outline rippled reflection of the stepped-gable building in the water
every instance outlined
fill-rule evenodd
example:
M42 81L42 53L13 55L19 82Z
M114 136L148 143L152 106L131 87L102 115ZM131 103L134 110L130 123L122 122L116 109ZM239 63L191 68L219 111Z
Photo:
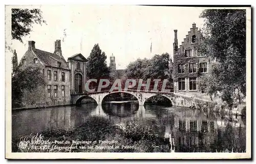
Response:
M224 121L221 118L214 118L207 114L203 116L201 114L198 111L176 112L173 130L169 132L167 129L167 133L171 133L174 137L176 152L215 152L216 148L220 147L218 142L220 140L224 142L222 136L228 138L230 137L228 135L236 135L239 138L238 127L244 127L241 118L239 119L240 122ZM228 131L226 129L228 128L227 125L230 126L233 134L224 134ZM239 141L236 141L233 144L238 143ZM222 146L225 149L229 148L227 145ZM231 150L232 148L229 149Z

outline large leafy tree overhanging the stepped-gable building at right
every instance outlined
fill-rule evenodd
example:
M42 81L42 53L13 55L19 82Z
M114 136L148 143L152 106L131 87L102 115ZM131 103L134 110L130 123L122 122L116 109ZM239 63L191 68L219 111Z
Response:
M229 105L246 95L246 11L207 9L200 49L217 63L204 78L209 95L221 93Z

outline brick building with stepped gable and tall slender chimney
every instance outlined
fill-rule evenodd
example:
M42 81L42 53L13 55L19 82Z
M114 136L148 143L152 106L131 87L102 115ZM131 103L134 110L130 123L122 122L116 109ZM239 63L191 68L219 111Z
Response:
M212 59L199 50L202 33L192 25L178 48L177 30L174 30L174 90L183 93L201 93L198 87L200 76L208 73Z

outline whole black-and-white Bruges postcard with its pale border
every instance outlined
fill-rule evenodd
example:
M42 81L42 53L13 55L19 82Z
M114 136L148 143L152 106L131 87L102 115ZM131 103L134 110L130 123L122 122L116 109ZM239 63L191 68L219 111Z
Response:
M251 7L6 5L7 159L251 158Z

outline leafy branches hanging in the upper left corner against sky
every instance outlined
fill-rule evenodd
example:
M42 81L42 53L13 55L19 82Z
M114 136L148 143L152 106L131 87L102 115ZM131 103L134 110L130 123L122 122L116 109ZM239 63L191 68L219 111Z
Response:
M22 37L30 34L33 24L46 24L41 13L40 9L12 9L12 39L23 42Z

